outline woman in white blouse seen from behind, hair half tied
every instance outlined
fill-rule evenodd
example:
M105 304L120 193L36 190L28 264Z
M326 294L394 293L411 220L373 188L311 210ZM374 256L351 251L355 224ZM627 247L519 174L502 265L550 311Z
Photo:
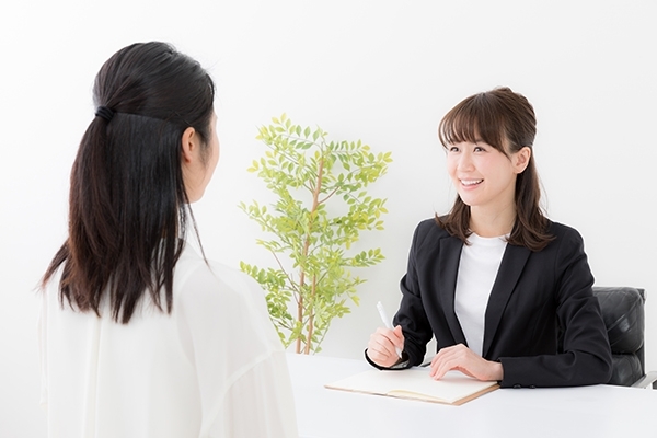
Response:
M297 436L262 289L185 243L219 158L214 97L164 43L125 47L96 76L69 235L43 279L49 436Z

